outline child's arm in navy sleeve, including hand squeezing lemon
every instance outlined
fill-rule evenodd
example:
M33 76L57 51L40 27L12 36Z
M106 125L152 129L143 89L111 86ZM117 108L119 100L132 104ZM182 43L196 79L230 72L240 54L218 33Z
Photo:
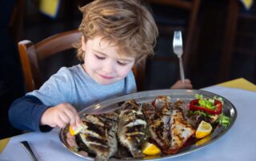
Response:
M39 132L48 132L57 126L64 128L66 124L74 128L82 124L71 104L47 107L36 96L23 96L15 100L10 106L9 118L15 128Z

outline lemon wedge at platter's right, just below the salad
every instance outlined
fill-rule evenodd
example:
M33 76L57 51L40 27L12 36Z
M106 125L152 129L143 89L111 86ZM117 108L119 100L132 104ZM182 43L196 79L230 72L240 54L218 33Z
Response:
M212 126L206 121L202 120L198 126L197 131L195 132L195 137L196 139L202 139L206 137L206 135L209 135L212 130Z

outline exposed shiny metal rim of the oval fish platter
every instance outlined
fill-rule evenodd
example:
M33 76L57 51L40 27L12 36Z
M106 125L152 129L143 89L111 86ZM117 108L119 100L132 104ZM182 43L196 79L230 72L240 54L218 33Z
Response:
M89 107L84 108L81 112L79 112L79 115L82 117L84 113L107 113L107 112L112 112L114 110L117 110L118 108L121 108L121 105L126 101L126 100L131 100L134 99L138 103L143 103L143 102L152 102L157 96L170 96L171 101L175 102L177 100L183 100L186 102L186 104L189 104L190 100L194 100L195 94L202 94L204 97L209 97L212 98L214 96L219 96L217 94L214 94L212 92L206 92L202 90L186 90L186 89L163 89L163 90L153 90L153 91L145 91L145 92L135 92L131 93L125 96L118 96L109 100L102 101L101 103L98 104L92 104ZM221 96L224 100L224 105L223 105L223 112L226 116L230 117L230 125L227 128L215 128L214 132L212 132L209 137L206 137L206 139L201 139L196 143L192 143L189 146L183 147L180 151L178 151L177 154L174 155L161 155L156 158L151 158L151 159L126 159L126 160L161 160L161 159L170 159L174 157L178 157L180 155L186 155L188 153L191 153L193 151L198 151L202 147L206 147L210 143L214 142L215 140L219 139L224 135L226 132L230 130L230 128L233 126L234 121L236 120L237 117L237 110L234 108L234 105L230 103L229 100L226 100L223 96ZM75 155L81 156L82 158L85 159L90 159L93 160L93 157L90 156L82 156L80 155L77 151L72 150L72 148L66 143L66 132L68 128L62 128L61 131L59 132L59 137L64 145L69 151L74 153ZM110 160L118 160L111 158Z

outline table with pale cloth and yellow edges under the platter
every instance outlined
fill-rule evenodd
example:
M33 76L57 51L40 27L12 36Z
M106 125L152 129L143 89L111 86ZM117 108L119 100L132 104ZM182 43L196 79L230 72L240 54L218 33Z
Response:
M214 84L200 90L229 100L237 110L233 126L220 138L205 147L184 155L162 160L256 160L256 85L244 78ZM86 160L74 155L59 139L59 128L50 132L27 132L0 140L0 160L31 160L20 142L26 140L39 161Z

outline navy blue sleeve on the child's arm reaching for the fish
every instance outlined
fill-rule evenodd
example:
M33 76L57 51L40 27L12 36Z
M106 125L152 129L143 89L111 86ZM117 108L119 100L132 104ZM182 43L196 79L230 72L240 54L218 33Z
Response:
M15 100L9 109L9 120L15 128L35 132L49 132L50 126L40 126L42 113L49 108L35 96L23 96Z

